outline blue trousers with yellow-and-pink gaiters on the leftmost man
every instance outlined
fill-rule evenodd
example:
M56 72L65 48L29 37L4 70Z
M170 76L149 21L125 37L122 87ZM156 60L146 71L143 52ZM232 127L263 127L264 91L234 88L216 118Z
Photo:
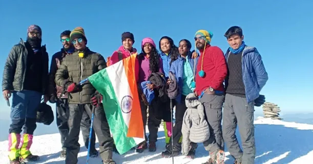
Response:
M37 107L41 93L23 90L12 93L11 125L9 129L9 158L26 158L30 155L33 133L36 129ZM23 128L24 126L24 128ZM23 128L23 136L20 135Z

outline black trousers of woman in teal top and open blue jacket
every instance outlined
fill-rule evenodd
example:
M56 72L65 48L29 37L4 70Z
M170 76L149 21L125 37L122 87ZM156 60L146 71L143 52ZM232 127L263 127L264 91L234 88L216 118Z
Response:
M181 102L178 103L176 100L173 101L173 106L175 105L176 110L175 110L175 126L173 127L173 146L174 146L174 151L181 151L181 143L179 143L179 139L182 136L181 133L181 127L182 127L182 121L183 121L183 116L187 110L186 104L185 104L185 95L181 95ZM172 143L172 137L170 138L170 143ZM169 149L172 148L172 144L170 144Z

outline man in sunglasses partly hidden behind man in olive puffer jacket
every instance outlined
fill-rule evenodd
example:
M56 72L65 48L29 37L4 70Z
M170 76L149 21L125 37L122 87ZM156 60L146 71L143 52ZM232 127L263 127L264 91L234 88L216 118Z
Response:
M68 94L64 92L64 87L55 85L55 73L60 67L62 59L67 55L72 55L75 48L70 42L70 30L66 30L60 34L60 41L63 48L52 56L50 73L49 73L49 102L56 103L56 125L61 135L62 151L60 153L61 158L66 157L66 149L64 147L64 141L67 139L69 133L69 126L67 118L69 115ZM82 137L84 138L85 146L88 148L89 144L89 132L90 132L91 120L87 112L82 113L82 119L80 122L80 128L82 131ZM98 151L95 148L95 133L92 131L91 145L90 145L90 157L97 157Z

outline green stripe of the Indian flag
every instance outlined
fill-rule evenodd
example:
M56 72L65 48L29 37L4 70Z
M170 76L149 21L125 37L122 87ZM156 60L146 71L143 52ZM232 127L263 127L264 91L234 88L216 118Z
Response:
M107 69L103 69L90 77L90 83L103 96L103 108L113 135L116 149L120 154L124 154L137 144L131 137L127 137L128 127L124 122L120 103L115 95ZM116 83L113 81L113 83Z

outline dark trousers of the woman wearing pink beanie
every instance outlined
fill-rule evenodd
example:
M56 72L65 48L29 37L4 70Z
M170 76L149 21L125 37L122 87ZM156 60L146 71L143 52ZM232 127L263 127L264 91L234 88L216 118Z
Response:
M152 104L154 104L153 102ZM158 130L161 124L160 120L157 120L155 118L154 111L157 110L155 105L149 105L149 117L148 117L148 129L149 129L149 136L145 135L145 126L147 124L147 106L145 106L140 101L140 108L141 108L141 114L142 114L142 121L143 121L143 129L144 129L144 138L146 141L150 142L156 142L158 138Z

